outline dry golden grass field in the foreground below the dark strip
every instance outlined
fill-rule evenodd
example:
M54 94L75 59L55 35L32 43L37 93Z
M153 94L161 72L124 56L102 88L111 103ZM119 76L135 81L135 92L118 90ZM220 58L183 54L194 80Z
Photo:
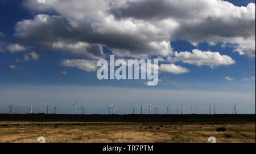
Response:
M226 131L216 131L226 127ZM255 122L245 123L114 123L0 122L0 142L254 142Z

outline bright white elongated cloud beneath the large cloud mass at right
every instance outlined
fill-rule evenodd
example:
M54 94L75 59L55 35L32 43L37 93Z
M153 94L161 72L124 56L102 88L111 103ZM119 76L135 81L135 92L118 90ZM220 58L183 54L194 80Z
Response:
M221 55L218 52L202 52L194 49L191 52L175 52L173 57L167 57L170 62L184 62L192 65L210 67L228 66L235 63L235 61L228 55Z

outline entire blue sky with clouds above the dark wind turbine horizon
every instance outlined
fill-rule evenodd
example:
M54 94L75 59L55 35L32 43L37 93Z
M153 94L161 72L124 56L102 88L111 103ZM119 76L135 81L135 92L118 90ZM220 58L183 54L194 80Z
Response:
M0 21L0 113L255 114L255 1L0 0ZM99 80L113 54L158 59L159 83Z

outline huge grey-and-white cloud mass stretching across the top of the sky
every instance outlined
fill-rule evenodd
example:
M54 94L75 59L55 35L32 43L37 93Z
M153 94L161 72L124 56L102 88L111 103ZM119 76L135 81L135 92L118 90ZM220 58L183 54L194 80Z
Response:
M170 41L187 40L193 45L232 44L234 51L255 57L255 3L238 7L220 0L55 0L38 5L26 0L23 5L41 14L18 22L15 36L48 48L56 42L83 42L106 46L118 56L166 57L172 54ZM47 15L49 11L58 16ZM64 50L86 58L98 57L98 51Z

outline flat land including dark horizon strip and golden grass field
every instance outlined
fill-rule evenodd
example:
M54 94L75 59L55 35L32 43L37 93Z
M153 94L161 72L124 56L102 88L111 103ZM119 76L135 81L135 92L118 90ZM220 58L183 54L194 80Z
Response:
M205 143L214 136L255 143L255 115L0 114L0 142L37 142L39 136L46 142Z

